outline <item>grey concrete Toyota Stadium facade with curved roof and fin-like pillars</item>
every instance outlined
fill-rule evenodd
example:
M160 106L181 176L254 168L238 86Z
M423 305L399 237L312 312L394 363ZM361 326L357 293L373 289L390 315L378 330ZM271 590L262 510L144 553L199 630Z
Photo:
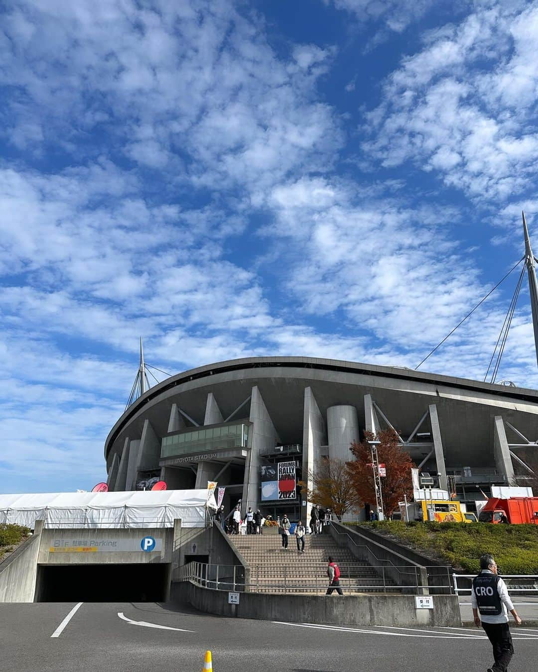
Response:
M167 378L126 409L106 439L108 485L217 480L227 508L241 498L243 509L304 520L310 504L299 491L262 501L262 466L293 460L306 480L322 456L349 459L350 442L387 427L421 470L472 505L479 488L512 484L518 472L525 485L517 453L538 437L538 391L317 358L219 362Z

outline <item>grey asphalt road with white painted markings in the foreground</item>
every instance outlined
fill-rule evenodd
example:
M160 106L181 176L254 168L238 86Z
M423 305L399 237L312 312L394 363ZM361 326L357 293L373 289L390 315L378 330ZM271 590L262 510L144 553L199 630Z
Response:
M215 672L484 672L492 662L481 630L292 625L155 603L82 603L72 613L76 606L0 604L3 669L200 672L206 649ZM510 672L536 669L538 628L512 634Z

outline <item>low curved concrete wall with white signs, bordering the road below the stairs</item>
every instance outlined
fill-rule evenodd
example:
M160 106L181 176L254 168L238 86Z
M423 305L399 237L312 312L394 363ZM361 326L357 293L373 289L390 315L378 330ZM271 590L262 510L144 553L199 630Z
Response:
M458 598L435 595L434 608L416 609L414 595L267 595L240 593L228 604L228 591L202 588L190 581L172 583L170 598L207 614L291 623L347 626L460 626Z

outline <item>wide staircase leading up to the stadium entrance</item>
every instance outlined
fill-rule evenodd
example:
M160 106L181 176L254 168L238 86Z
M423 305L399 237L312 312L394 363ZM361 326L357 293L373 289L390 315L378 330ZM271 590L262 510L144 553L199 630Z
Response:
M340 586L346 593L383 592L393 585L367 562L360 562L348 550L340 548L330 534L309 534L305 552L297 552L295 536L282 548L279 534L230 536L250 569L252 591L258 593L302 593L323 595L328 588L328 557L340 567ZM389 589L390 590L390 589ZM394 592L394 590L390 590Z

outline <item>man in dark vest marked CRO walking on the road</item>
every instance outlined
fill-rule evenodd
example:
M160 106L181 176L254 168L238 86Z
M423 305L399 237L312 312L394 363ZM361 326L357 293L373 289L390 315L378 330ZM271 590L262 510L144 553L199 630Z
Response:
M473 579L471 587L471 607L475 626L479 628L482 625L492 644L495 663L488 667L488 672L506 672L514 655L508 612L518 626L521 626L521 618L514 609L506 583L498 575L497 563L490 554L480 558L480 573Z

